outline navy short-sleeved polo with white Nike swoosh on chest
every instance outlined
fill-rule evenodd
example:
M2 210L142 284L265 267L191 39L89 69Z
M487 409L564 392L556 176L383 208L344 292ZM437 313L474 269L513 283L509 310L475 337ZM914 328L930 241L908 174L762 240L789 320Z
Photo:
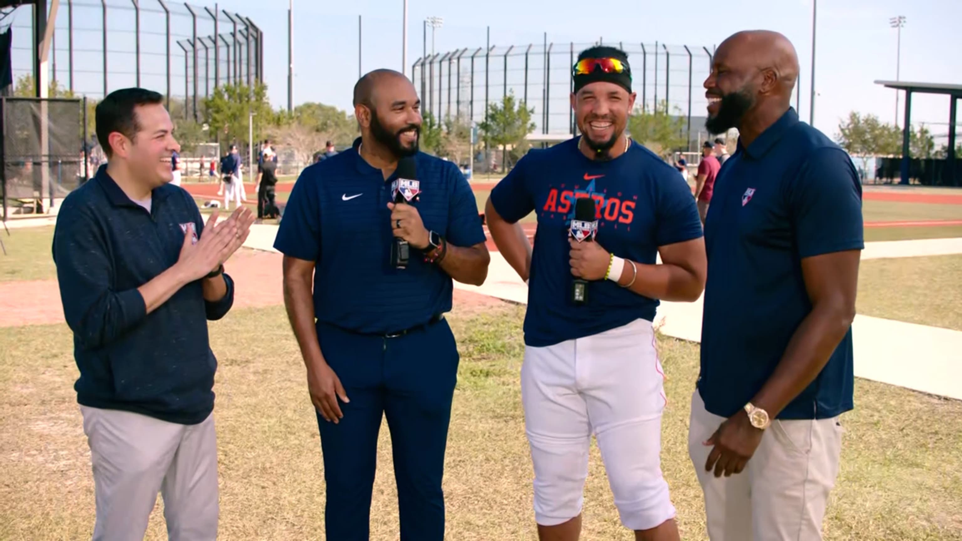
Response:
M451 162L418 152L419 200L428 230L450 245L485 242L477 202ZM314 261L317 322L384 334L428 322L451 309L453 283L411 249L407 269L391 266L391 184L356 147L305 167L297 178L274 247Z

